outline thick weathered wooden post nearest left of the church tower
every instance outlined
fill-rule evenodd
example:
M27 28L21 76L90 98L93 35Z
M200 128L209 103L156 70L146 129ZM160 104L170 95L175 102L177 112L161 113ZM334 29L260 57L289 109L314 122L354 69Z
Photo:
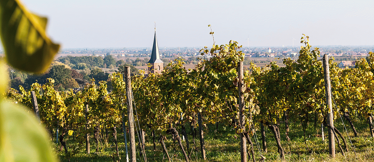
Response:
M125 84L126 84L126 98L127 98L127 116L128 116L128 126L129 126L129 140L130 140L130 151L129 159L131 162L136 162L136 152L135 152L135 132L134 132L134 114L132 112L132 90L131 90L131 75L130 67L125 67Z

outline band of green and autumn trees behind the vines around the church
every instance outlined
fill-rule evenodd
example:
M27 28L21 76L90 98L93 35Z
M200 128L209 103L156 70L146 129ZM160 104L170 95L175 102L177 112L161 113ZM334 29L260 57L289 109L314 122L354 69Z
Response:
M177 56L175 56L177 57ZM164 67L174 58L162 58ZM197 64L200 57L187 57L184 59L186 64ZM103 71L103 68L109 68L111 72L124 71L125 66L131 67L131 73L138 73L135 66L146 66L149 58L136 58L116 61L109 53L102 58L101 56L61 56L52 63L50 69L43 74L29 74L16 69L9 69L10 84L9 88L19 90L19 86L29 89L30 86L38 82L45 84L47 78L55 80L54 88L64 90L70 88L83 88L90 79L95 79L96 84L101 80L108 80L109 73ZM108 89L111 85L108 84Z

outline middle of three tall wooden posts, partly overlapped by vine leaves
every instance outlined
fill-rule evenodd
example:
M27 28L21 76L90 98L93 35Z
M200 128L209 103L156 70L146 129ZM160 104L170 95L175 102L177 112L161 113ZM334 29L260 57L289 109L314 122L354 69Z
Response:
M244 82L243 82L243 61L239 61L237 66L238 82L237 88L239 90L239 124L240 124L240 162L247 161L247 140L243 134L245 125L244 111Z

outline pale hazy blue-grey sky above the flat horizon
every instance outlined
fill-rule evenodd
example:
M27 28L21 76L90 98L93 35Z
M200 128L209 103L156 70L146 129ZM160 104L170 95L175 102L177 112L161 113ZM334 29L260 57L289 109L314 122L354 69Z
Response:
M23 0L62 48L374 45L374 1Z

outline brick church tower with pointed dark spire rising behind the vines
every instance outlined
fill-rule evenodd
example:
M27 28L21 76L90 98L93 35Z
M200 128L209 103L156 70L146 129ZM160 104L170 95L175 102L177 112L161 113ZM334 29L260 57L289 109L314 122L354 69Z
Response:
M151 73L161 73L161 71L163 70L163 62L160 59L159 46L157 45L156 28L154 31L151 59L148 61L148 63L151 64L151 67L148 67L148 71L150 71Z

